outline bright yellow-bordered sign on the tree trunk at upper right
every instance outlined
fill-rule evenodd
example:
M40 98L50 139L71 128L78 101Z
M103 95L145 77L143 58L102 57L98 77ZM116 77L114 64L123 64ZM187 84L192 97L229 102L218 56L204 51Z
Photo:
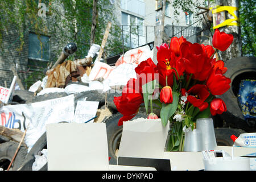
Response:
M231 14L234 18L232 19L225 19L225 16L223 21L220 24L216 24L216 21L214 21L214 15L213 15L213 29L224 27L224 26L240 26L240 23L238 22L239 19L237 18L237 15L234 13L234 11L237 11L237 7L233 6L215 6L210 7L210 10L212 10L212 14L221 14L225 11L228 11L229 14Z

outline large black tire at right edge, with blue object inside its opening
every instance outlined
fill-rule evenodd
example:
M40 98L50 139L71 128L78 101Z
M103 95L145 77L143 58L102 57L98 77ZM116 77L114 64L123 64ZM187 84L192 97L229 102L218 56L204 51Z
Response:
M245 122L242 111L237 101L237 93L241 80L245 78L256 79L256 59L255 57L236 57L225 63L228 71L225 73L232 81L231 88L221 96L227 107L227 111L220 115L229 126L242 129L247 132L255 132L255 127L251 127ZM255 123L254 123L254 126Z

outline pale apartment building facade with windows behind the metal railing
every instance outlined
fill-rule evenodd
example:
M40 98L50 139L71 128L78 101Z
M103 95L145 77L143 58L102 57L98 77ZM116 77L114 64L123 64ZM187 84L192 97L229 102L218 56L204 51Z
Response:
M156 0L116 0L113 1L117 19L121 24L126 47L135 48L154 42L155 26L160 21L160 11ZM208 1L197 1L201 6L208 6ZM163 5L162 5L163 6ZM164 32L166 36L185 36L191 42L198 42L196 32L202 27L200 11L192 7L194 12L177 10L175 14L171 1L166 0L164 16Z

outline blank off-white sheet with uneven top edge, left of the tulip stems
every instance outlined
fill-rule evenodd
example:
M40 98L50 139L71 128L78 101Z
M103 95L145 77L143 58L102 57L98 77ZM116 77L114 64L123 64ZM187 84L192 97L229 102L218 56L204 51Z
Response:
M118 156L162 159L169 130L161 119L138 118L123 122Z

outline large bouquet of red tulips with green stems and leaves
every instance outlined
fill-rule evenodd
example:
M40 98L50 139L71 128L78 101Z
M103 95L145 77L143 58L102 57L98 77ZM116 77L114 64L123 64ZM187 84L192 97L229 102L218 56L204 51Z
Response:
M157 46L157 64L151 58L142 61L135 68L137 79L131 78L122 96L114 97L117 110L123 114L118 126L135 117L144 104L150 113L148 119L160 117L163 126L170 121L171 132L177 137L169 140L167 150L182 151L184 130L193 130L197 118L226 111L224 101L215 96L224 94L231 80L224 76L224 61L216 60L214 54L217 50L225 51L232 42L233 35L216 29L213 46L192 44L182 36ZM153 103L160 115L153 113Z

